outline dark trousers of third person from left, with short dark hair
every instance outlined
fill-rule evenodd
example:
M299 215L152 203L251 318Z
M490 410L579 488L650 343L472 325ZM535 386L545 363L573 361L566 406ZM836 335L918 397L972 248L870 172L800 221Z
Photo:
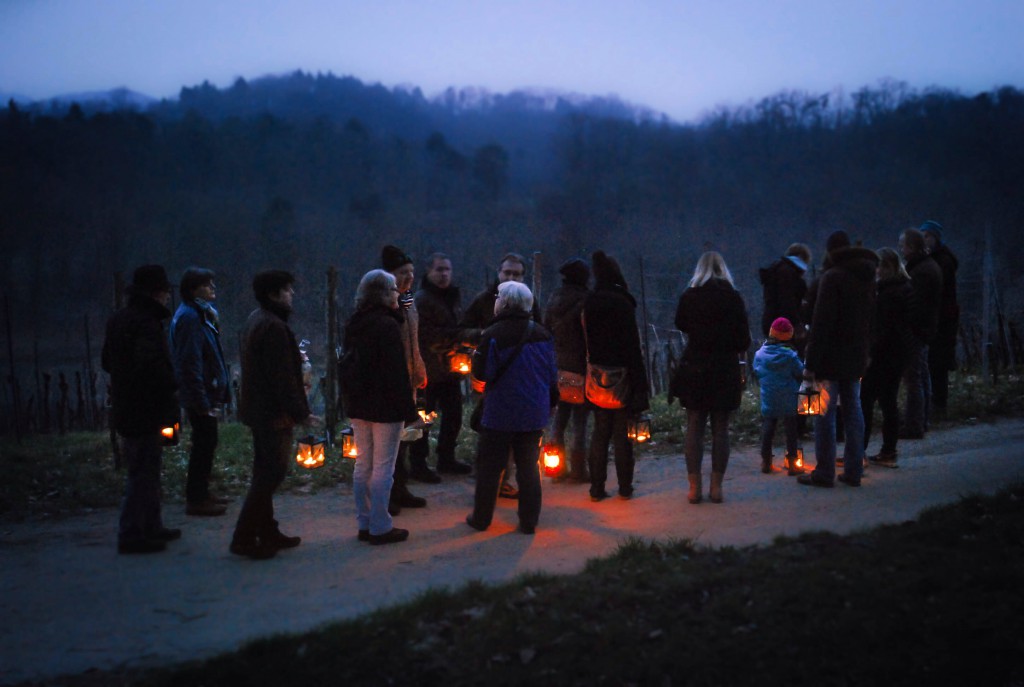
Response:
M278 529L273 492L285 481L292 458L292 430L252 428L253 478L234 525L232 542L248 544Z

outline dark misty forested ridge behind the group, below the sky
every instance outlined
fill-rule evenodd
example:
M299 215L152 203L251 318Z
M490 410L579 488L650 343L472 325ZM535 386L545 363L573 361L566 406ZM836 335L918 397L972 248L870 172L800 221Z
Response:
M542 303L557 266L596 249L618 258L639 297L642 260L647 318L669 328L706 250L723 254L756 323L758 267L790 243L820 264L836 229L880 248L935 219L961 260L970 325L986 245L1000 315L1024 309L1022 191L1024 92L1012 86L786 91L679 124L613 96L428 99L297 72L174 100L8 101L0 280L15 357L39 349L57 364L81 359L85 327L95 354L115 274L139 264L161 263L172 281L189 265L217 272L229 357L255 305L252 275L289 269L295 330L315 359L328 267L344 315L385 244L417 258L417 278L430 253L447 253L464 303L507 251L541 254Z

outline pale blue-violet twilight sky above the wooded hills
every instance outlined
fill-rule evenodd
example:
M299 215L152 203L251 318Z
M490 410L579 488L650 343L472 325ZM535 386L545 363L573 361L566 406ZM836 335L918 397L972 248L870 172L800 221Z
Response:
M300 69L553 88L689 121L881 79L1024 88L1024 0L0 0L0 93L174 97Z

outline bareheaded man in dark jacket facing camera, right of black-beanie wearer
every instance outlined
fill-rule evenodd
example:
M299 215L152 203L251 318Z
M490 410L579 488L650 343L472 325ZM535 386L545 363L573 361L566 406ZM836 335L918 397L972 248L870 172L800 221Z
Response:
M455 447L462 429L462 375L452 372L451 355L462 344L479 338L480 329L464 329L462 297L453 283L452 260L443 253L434 253L427 262L419 291L416 309L420 316L420 352L427 370L424 401L428 412L440 416L437 432L437 471L453 475L468 474L472 468L457 461ZM437 483L441 478L427 465L430 455L429 430L413 442L409 452L409 475L420 482Z

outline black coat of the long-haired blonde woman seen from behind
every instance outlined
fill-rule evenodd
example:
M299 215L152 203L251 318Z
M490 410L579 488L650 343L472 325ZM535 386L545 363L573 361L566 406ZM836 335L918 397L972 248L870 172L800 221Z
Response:
M739 407L742 381L739 356L751 345L751 329L742 296L725 280L689 287L679 297L676 329L687 336L676 391L694 411Z

